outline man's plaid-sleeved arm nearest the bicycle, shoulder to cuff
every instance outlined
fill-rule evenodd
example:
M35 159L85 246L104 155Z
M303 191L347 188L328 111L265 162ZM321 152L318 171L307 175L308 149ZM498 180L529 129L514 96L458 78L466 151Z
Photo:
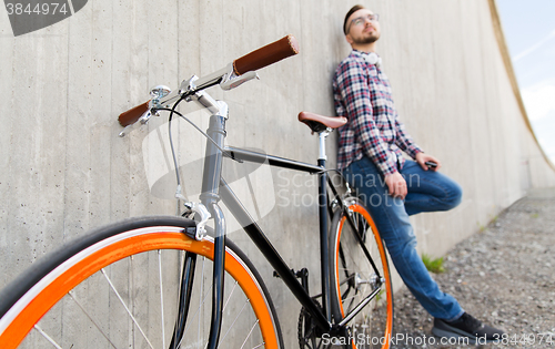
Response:
M365 154L384 176L397 172L390 147L383 142L372 116L371 93L364 69L357 62L345 62L336 75L336 89L346 109L346 117Z

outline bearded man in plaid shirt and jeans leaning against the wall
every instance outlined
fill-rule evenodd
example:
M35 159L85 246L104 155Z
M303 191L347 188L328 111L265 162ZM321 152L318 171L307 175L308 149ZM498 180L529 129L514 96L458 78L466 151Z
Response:
M379 16L355 6L345 16L343 31L353 51L333 79L336 113L349 119L339 131L337 166L365 201L403 281L435 318L433 333L501 338L503 331L483 325L440 290L416 253L408 216L451 209L461 203L462 191L437 172L441 162L424 153L397 120L390 82L375 53Z

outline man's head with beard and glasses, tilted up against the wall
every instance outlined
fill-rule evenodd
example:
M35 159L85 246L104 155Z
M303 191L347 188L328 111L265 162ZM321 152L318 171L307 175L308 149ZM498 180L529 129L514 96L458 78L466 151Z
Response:
M343 32L346 41L353 47L373 44L380 39L379 16L364 7L356 4L345 16Z

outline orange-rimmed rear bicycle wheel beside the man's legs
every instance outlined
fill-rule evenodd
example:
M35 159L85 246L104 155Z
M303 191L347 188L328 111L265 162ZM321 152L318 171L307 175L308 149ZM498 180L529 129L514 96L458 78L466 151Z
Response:
M359 198L345 199L352 211L353 229L343 212L335 213L330 235L331 302L335 322L340 322L370 295L375 294L356 317L349 322L352 348L390 348L393 332L393 290L387 256L370 213ZM366 258L357 234L364 242L372 263Z

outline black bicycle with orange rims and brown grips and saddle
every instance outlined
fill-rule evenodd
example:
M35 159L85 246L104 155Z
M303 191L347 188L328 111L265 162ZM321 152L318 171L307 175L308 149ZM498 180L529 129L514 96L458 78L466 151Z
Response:
M389 348L393 292L382 239L349 185L340 194L329 175L333 170L325 168L326 136L346 119L300 113L299 120L319 134L320 145L317 165L302 163L225 146L228 105L205 91L215 85L234 89L256 79L256 70L297 52L296 40L285 37L208 76L193 75L175 92L157 86L151 101L122 113L124 135L161 111L170 112L170 127L174 115L189 121L176 111L183 101L211 112L205 133L195 126L206 137L200 203L181 193L175 163L175 196L183 207L178 216L104 226L34 264L0 294L0 347L43 340L56 348L283 348L261 275L226 238L221 201L301 302L301 348ZM171 132L170 143L173 151ZM319 177L321 294L310 295L309 271L289 268L230 188L222 177L224 157ZM214 228L206 226L210 219ZM151 275L148 265L158 273ZM145 275L139 276L141 271Z

